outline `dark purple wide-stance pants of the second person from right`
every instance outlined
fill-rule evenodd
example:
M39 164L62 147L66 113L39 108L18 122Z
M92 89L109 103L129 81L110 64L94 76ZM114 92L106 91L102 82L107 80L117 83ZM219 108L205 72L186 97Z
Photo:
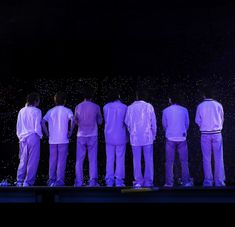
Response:
M176 149L179 153L181 162L182 182L183 184L186 184L190 181L187 141L175 142L166 140L166 184L168 185L174 184L173 166Z

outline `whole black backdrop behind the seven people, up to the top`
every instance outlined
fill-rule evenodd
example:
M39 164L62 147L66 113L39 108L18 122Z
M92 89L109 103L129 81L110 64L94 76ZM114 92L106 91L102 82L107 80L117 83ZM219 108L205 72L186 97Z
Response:
M26 94L38 91L43 114L53 106L58 90L68 94L67 106L81 101L90 84L95 102L109 101L108 90L118 87L123 102L134 90L149 94L158 119L154 144L155 182L164 182L162 110L167 96L178 89L189 109L189 162L195 183L202 182L200 135L194 123L201 101L200 88L211 84L224 106L224 158L227 181L235 183L235 5L232 1L169 1L125 5L102 1L1 1L0 7L0 180L13 182L18 165L15 135L17 113ZM75 133L66 171L73 184ZM179 167L177 161L176 166ZM126 153L127 184L133 180L132 154ZM85 165L88 173L88 165ZM176 176L180 174L176 168ZM103 125L99 129L99 178L105 174ZM48 175L48 144L42 140L37 184Z

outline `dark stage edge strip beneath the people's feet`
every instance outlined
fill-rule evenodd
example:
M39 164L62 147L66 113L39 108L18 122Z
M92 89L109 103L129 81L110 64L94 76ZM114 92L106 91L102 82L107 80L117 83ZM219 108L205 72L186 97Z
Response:
M0 203L235 203L235 187L0 187Z

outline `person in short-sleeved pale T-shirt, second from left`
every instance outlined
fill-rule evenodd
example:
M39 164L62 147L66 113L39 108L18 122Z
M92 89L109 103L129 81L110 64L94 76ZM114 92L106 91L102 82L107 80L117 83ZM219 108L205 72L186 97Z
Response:
M68 156L69 137L72 134L73 112L66 108L66 94L57 92L54 96L55 107L43 118L42 127L49 137L49 180L48 186L64 186L65 168ZM48 123L49 133L46 126ZM68 133L70 123L70 132Z

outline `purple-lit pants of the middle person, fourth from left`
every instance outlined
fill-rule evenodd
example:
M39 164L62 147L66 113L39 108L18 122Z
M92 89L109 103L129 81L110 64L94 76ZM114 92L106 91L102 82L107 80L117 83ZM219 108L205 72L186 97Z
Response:
M125 152L126 144L110 145L106 144L106 176L105 179L122 181L125 178ZM116 157L116 171L114 174L114 163Z

